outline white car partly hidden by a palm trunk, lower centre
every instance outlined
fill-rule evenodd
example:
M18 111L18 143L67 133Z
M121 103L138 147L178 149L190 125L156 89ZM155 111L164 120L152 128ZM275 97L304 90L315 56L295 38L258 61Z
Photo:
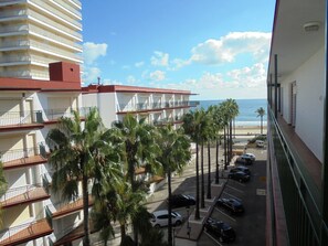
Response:
M172 225L179 226L182 223L182 216L177 213L171 213ZM169 224L169 212L167 210L155 211L151 213L150 223L154 227L168 226Z

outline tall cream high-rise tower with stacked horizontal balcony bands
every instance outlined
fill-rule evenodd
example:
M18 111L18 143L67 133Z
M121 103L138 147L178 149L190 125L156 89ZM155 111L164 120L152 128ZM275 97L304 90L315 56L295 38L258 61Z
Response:
M80 0L0 0L0 77L49 79L49 64L82 63Z

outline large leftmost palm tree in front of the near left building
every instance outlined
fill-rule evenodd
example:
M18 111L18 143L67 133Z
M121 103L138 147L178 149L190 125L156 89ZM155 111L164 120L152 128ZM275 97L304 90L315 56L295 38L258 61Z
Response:
M98 164L100 138L104 127L98 111L93 108L85 117L82 127L78 111L74 118L61 118L57 128L51 129L46 142L53 150L49 163L54 167L52 189L60 192L63 200L71 201L78 195L78 184L82 180L84 238L83 245L89 245L88 226L88 180L95 177L95 167Z

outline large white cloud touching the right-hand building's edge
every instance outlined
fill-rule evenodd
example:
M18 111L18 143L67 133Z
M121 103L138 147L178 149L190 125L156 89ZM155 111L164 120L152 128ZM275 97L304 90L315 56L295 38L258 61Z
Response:
M239 54L251 54L256 61L267 56L271 33L231 32L219 40L207 40L191 50L191 61L202 64L234 62Z

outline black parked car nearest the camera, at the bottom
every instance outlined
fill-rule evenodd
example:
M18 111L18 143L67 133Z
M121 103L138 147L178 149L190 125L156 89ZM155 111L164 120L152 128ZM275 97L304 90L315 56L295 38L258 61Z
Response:
M204 227L208 233L218 237L221 243L223 243L223 242L229 243L229 242L235 240L234 229L229 224L226 224L224 222L215 221L215 220L209 217Z

